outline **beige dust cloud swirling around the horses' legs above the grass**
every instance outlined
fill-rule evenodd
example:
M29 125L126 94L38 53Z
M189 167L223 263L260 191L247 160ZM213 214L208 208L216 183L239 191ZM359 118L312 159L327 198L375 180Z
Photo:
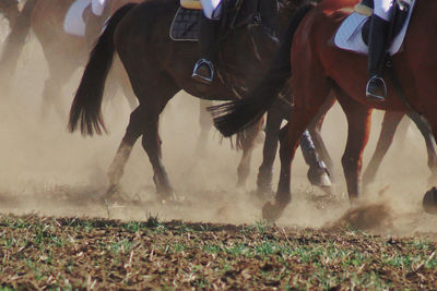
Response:
M0 25L7 27L3 21ZM1 43L4 34L5 29L2 29ZM82 70L75 72L63 87L62 96L59 96L66 112L81 73ZM127 203L102 203L98 198L108 184L106 170L129 119L128 102L120 93L111 101L105 102L104 117L110 130L108 135L84 138L79 133L70 134L66 130L67 116L60 117L52 108L48 113L42 113L42 94L47 76L40 46L35 37L31 37L13 82L9 84L10 92L5 94L4 88L0 88L1 213L116 219L145 219L153 215L165 220L231 223L261 220L262 204L251 192L261 162L262 145L257 145L253 151L247 186L237 189L237 163L241 153L231 149L227 140L221 143L218 133L211 129L206 153L198 155L199 100L185 93L178 94L168 104L161 120L163 161L181 197L180 202L161 204L156 201L151 165L141 144L137 143L118 193ZM375 148L381 117L381 112L374 113L373 133L364 165L367 165ZM335 105L328 113L322 130L335 163L335 193L327 196L309 184L306 179L307 166L298 150L293 165L293 202L277 225L322 228L330 223L351 222L356 217L374 217L375 209L377 213L379 209L386 214L382 219L386 231L401 234L436 231L436 217L424 214L421 208L422 197L429 189L429 170L423 137L418 131L410 125L405 140L395 138L377 182L364 195L366 206L354 213L346 202L340 162L346 130L344 114ZM277 173L276 161L274 187ZM373 229L374 225L374 229L379 229L380 220L368 221L367 229Z

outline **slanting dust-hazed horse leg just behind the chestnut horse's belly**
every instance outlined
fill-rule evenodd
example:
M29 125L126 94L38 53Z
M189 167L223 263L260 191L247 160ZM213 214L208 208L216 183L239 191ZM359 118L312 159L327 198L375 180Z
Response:
M403 116L404 113L402 112L387 111L385 113L378 144L375 148L374 155L371 156L370 162L363 174L363 187L365 192L367 191L368 185L375 181L376 173L387 154L387 150L393 142L394 132Z

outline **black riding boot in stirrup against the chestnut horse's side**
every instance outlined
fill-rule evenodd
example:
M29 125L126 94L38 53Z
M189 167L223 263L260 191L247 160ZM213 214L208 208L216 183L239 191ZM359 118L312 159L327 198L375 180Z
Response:
M383 101L387 96L387 86L382 78L382 69L386 59L389 28L389 22L375 14L371 15L368 53L369 81L366 86L366 96L377 101Z

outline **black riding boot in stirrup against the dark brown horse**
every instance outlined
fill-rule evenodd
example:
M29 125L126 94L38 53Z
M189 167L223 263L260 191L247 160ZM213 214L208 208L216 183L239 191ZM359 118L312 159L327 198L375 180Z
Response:
M214 65L212 61L216 54L218 31L220 21L211 21L206 17L202 19L199 39L200 59L194 65L191 77L204 84L211 84L214 78Z

